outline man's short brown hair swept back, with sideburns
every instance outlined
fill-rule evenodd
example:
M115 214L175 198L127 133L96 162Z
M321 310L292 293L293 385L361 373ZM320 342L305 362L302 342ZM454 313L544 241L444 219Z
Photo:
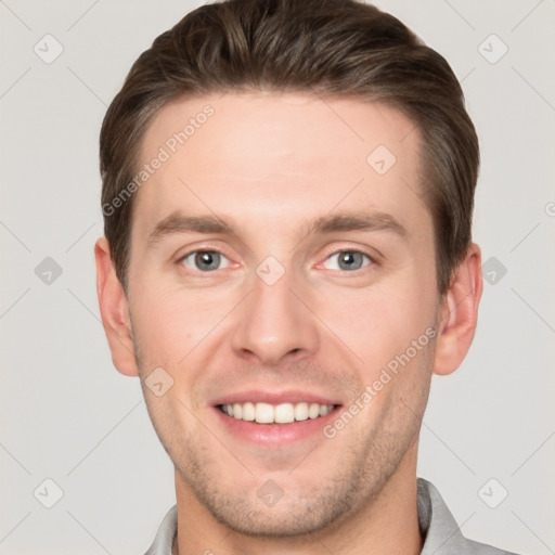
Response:
M434 220L440 294L472 240L479 147L446 60L396 17L356 0L228 0L203 5L132 65L100 135L104 232L127 291L135 175L153 115L169 101L271 90L356 96L408 116L422 137L420 186ZM106 214L105 206L111 206Z

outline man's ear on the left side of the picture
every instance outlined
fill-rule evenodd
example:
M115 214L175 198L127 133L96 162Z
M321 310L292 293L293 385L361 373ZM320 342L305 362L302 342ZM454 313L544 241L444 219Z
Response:
M127 296L117 279L106 237L96 241L94 259L100 313L112 351L112 361L121 374L138 376Z

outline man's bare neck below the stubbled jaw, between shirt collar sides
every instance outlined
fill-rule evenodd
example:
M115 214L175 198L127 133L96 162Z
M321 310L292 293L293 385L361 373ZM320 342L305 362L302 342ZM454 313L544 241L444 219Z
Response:
M379 494L340 521L301 537L260 538L218 522L176 472L178 537L172 555L264 553L317 555L418 555L423 540L416 505L416 446L410 449Z

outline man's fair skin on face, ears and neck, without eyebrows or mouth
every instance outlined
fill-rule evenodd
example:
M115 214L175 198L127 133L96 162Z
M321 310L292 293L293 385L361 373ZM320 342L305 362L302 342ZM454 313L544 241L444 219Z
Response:
M214 116L135 193L128 295L105 237L95 245L114 364L140 376L176 467L173 553L417 554L421 420L433 373L456 370L473 340L479 247L440 297L433 222L416 194L420 133L385 105L262 92L180 100L151 124L142 159L207 104ZM383 176L366 163L377 145L397 158ZM180 232L149 246L176 210L228 219L236 235ZM308 232L312 219L354 210L390 215L405 236ZM224 256L207 271L194 255L183 261L195 249ZM346 269L334 255L345 250L371 258ZM285 271L271 286L256 273L268 256ZM261 447L211 405L296 389L333 397L340 414L429 327L437 336L332 439ZM159 366L173 379L162 397L144 384ZM283 491L273 506L257 495L268 480Z

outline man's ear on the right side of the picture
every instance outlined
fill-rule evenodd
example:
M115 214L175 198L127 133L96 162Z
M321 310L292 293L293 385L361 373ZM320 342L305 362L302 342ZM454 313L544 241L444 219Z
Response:
M441 302L435 374L451 374L466 357L474 339L482 288L481 251L473 243L455 269Z

